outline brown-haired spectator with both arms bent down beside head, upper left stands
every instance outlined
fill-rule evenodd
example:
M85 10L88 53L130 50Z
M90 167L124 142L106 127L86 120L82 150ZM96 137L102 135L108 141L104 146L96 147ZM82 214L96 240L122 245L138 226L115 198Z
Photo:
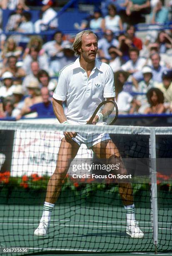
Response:
M28 42L27 44L27 47L24 51L24 54L23 54L23 59L25 59L25 56L27 54L29 54L29 51L30 51L30 48L33 46L33 47L36 47L38 50L39 50L39 55L42 55L44 54L44 50L42 49L42 38L40 36L31 36L30 37L30 41Z

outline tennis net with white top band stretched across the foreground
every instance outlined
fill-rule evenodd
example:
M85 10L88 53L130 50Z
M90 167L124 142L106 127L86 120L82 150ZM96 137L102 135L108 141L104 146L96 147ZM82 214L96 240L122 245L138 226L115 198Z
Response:
M117 179L111 172L112 166L105 165L100 137L102 147L94 152L82 144L68 174L61 181L62 189L52 211L49 233L46 237L33 236L42 216L47 183L55 170L64 131L86 134L90 141L97 134L109 134L120 151L128 177ZM172 129L167 127L1 121L1 252L25 255L38 252L171 251L171 144ZM103 155L101 161L95 153ZM62 154L68 154L67 148L62 148ZM144 233L142 238L131 238L126 233L126 213L119 187L122 186L120 183L129 182L133 189L136 220Z

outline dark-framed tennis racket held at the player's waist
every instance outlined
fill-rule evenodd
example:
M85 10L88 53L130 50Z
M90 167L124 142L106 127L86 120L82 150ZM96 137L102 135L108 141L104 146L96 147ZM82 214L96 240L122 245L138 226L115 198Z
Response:
M112 125L118 117L118 108L116 102L112 100L103 101L98 105L87 124Z

